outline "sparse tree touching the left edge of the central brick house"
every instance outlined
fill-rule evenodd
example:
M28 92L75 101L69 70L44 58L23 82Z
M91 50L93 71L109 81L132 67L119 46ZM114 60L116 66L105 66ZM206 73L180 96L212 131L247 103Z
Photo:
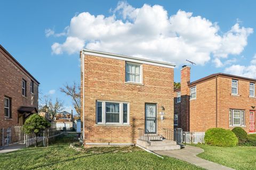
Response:
M75 82L73 84L65 84L63 88L60 88L60 91L65 93L67 96L71 97L73 100L73 107L76 109L76 112L81 114L81 98L80 98L80 86Z

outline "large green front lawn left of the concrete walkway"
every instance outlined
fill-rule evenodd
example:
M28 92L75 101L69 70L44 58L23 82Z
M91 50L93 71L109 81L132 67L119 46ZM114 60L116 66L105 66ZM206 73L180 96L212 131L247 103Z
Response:
M0 169L202 169L181 160L159 158L137 147L91 148L67 144L30 147L0 154Z

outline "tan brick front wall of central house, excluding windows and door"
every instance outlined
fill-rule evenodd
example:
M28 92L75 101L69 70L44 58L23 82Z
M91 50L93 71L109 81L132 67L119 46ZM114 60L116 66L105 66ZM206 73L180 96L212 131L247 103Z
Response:
M86 55L84 66L85 143L135 143L138 128L145 128L145 103L157 104L157 133L173 128L173 69L142 64L143 85L138 85L125 83L125 61ZM96 100L129 102L130 125L97 125ZM164 120L160 120L161 106Z

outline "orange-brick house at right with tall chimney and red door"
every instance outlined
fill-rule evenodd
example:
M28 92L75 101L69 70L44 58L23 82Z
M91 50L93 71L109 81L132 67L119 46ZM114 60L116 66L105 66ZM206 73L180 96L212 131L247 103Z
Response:
M181 69L174 90L174 126L183 131L241 127L255 132L255 79L217 73L190 82L190 67Z

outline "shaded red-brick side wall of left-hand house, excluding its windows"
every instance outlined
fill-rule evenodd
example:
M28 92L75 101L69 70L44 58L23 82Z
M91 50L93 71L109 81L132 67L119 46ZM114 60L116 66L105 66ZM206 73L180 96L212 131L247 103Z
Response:
M22 97L22 79L27 81L27 97ZM31 94L31 79L0 48L0 128L8 128L22 123L18 123L18 109L20 106L34 106L38 108L38 84L34 81L34 95ZM4 117L4 96L11 98L12 118Z

